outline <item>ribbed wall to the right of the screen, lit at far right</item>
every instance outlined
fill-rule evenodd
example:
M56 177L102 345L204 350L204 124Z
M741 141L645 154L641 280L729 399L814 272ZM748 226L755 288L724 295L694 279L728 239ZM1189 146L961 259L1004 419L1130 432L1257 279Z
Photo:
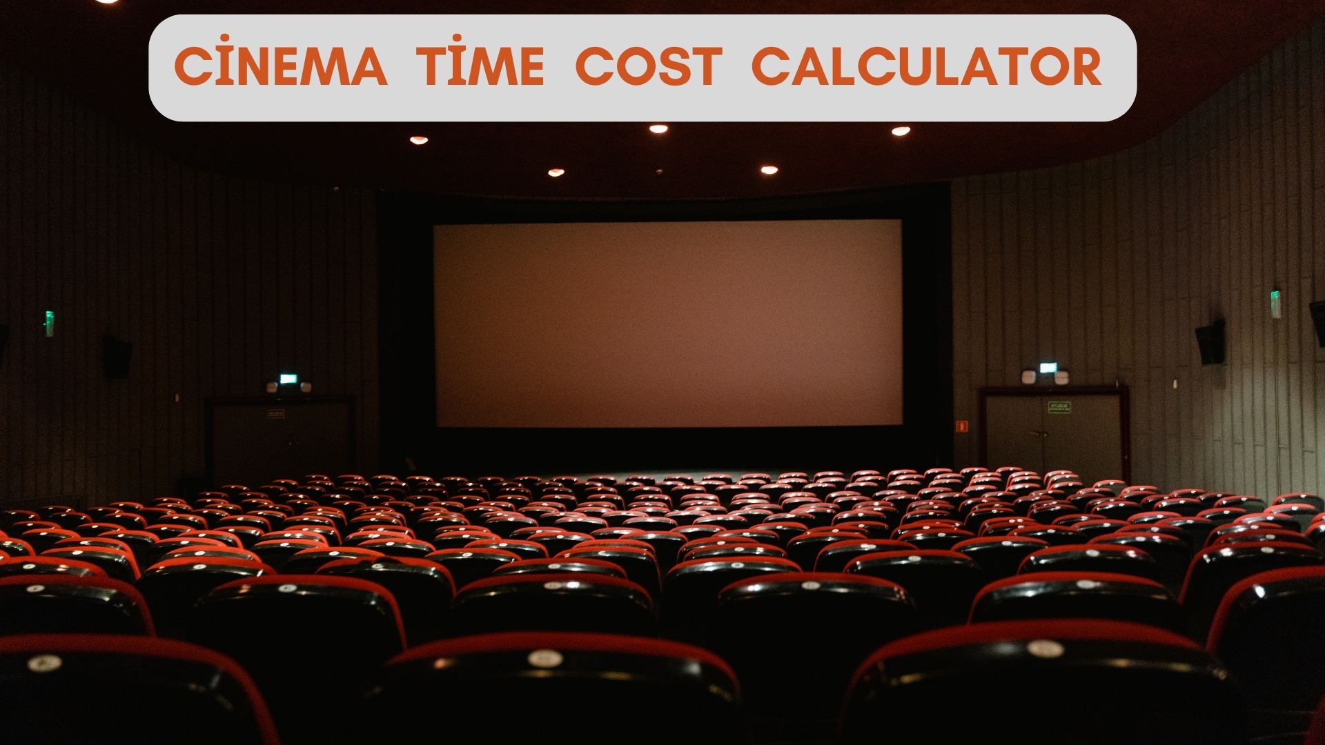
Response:
M1325 300L1325 20L1142 144L951 194L954 296L979 270L1018 273L954 302L955 411L1057 359L1073 383L1132 387L1138 483L1320 492L1325 350L1306 304ZM1227 362L1200 366L1192 330L1220 315ZM973 464L975 435L955 443Z

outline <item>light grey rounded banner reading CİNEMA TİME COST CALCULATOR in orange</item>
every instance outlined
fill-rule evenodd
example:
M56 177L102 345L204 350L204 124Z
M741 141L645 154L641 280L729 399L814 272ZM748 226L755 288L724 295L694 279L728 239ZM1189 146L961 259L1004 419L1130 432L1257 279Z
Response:
M1102 122L1137 91L1114 16L166 19L182 122Z

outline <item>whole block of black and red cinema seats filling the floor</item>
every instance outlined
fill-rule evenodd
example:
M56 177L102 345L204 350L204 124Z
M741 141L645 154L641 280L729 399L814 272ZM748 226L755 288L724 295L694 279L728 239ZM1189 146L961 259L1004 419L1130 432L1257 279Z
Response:
M1020 711L1031 742L1300 742L1322 506L1003 468L310 475L7 510L0 721L904 742Z

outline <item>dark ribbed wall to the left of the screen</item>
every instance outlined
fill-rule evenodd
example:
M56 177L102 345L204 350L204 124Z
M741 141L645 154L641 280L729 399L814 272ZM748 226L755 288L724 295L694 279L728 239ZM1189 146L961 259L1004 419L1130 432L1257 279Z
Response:
M174 493L205 468L204 400L282 370L355 398L376 468L375 232L371 191L200 172L0 65L0 504Z

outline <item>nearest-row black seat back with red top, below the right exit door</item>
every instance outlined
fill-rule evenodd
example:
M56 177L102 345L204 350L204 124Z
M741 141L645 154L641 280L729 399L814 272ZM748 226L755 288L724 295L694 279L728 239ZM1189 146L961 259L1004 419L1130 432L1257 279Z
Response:
M954 689L965 696L954 716ZM843 742L988 740L1008 716L995 692L1071 692L1012 725L1018 742L1244 745L1242 693L1222 664L1178 634L1124 622L1057 619L977 623L885 644L856 672L840 721ZM1081 717L1120 691L1162 691L1162 705ZM1081 703L1081 704L1076 704Z

